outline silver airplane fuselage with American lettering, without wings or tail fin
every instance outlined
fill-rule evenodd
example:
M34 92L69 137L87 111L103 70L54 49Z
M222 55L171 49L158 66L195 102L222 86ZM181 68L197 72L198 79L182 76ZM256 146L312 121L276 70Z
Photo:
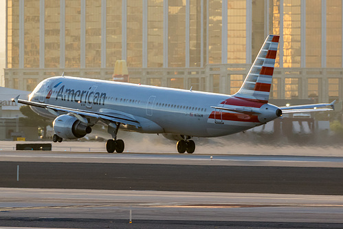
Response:
M30 96L33 102L128 116L146 126L125 125L121 129L141 133L208 138L241 132L277 118L274 105L239 100L224 94L62 76L43 80ZM239 105L269 113L256 115L222 111L211 108L214 105ZM32 109L41 116L56 118L47 109Z

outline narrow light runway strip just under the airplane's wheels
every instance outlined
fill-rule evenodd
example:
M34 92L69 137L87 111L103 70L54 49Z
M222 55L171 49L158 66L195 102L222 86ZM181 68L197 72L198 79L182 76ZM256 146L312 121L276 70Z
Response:
M293 153L293 152L292 152ZM104 153L67 151L0 151L0 162L79 162L209 166L291 166L343 168L341 156L239 155L180 153Z

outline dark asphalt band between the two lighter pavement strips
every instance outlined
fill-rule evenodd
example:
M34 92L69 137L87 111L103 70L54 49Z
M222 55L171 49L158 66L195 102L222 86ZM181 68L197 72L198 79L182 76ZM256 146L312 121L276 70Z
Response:
M0 186L14 188L343 195L342 174L343 168L0 162Z

